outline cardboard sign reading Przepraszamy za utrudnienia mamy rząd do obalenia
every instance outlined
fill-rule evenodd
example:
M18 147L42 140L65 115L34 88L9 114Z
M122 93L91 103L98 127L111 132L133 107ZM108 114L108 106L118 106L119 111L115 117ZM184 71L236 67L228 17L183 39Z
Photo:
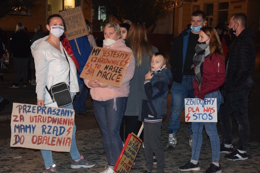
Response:
M70 151L74 110L13 103L10 147Z

